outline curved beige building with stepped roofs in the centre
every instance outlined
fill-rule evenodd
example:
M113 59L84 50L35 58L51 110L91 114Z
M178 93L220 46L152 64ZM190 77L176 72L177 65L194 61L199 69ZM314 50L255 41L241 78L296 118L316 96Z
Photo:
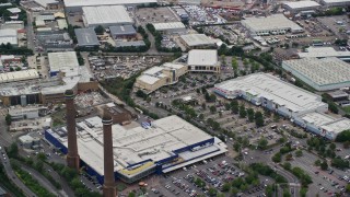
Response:
M178 78L187 72L185 65L164 63L145 70L135 83L135 86L151 93L161 86L174 84Z

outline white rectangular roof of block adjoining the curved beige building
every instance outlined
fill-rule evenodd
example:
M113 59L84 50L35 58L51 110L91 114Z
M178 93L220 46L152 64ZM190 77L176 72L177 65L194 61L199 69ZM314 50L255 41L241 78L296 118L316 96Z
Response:
M188 53L189 66L219 66L218 50L192 49Z

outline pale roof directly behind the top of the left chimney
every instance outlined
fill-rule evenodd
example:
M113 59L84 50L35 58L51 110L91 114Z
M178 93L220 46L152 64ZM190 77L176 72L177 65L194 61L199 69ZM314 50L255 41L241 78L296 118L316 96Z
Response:
M48 53L48 62L51 72L63 71L70 74L79 68L75 51Z

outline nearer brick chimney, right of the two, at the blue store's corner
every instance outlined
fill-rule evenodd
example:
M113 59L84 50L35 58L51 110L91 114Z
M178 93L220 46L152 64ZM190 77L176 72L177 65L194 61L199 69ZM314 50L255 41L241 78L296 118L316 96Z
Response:
M104 152L104 197L116 197L116 186L114 178L114 158L113 158L113 139L112 139L112 116L104 113L102 118L103 124L103 152Z

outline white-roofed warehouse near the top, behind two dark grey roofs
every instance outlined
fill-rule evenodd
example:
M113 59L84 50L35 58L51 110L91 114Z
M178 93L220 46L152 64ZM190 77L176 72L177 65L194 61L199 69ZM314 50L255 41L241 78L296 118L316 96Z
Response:
M86 27L109 27L114 25L128 25L133 21L122 5L112 7L83 7L83 21Z

